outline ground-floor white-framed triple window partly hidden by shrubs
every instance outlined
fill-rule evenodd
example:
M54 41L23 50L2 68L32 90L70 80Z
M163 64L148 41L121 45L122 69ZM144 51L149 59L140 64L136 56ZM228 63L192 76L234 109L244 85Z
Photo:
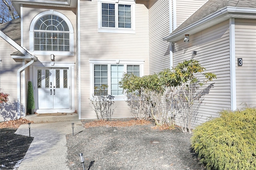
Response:
M105 89L105 95L113 95L115 97L124 98L123 89L119 87L119 82L124 73L131 73L136 76L142 76L143 74L143 62L134 62L123 64L112 61L90 61L93 75L91 75L93 95L98 94L102 85L107 85ZM102 91L102 90L101 90ZM116 98L115 98L116 99Z

